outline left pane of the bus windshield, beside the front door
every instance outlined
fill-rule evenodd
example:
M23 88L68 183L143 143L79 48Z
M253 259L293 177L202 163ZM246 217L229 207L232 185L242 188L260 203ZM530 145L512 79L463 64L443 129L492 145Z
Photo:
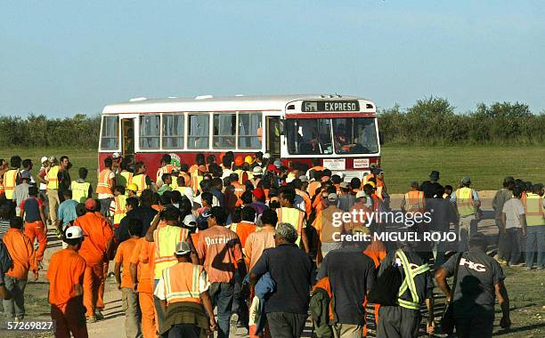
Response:
M287 119L285 125L289 154L333 154L330 118Z

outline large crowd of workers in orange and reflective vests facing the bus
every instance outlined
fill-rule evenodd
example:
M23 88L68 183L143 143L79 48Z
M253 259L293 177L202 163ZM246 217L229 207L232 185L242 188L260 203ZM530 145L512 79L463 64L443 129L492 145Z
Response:
M86 323L103 318L110 261L126 337L145 338L228 337L239 326L250 337L299 337L309 311L318 337L362 337L368 303L379 337L416 337L424 303L433 334L435 285L454 304L460 337L492 336L496 297L500 325L510 326L500 263L517 264L524 254L532 270L537 253L537 270L545 266L543 186L511 177L492 202L500 233L494 259L477 232L482 213L468 177L452 189L434 171L403 196L403 213L433 213L431 222L397 231L445 233L456 224L460 254L446 257L445 241L369 237L393 224L334 225L340 213L389 211L377 167L343 181L319 161L287 168L269 154L229 152L199 154L191 165L164 155L150 177L144 163L115 153L93 189L83 167L71 180L68 157L43 157L41 165L35 181L31 160L0 160L0 297L8 320L24 318L28 272L37 278L43 269L47 228L54 229L63 249L45 278L58 337L86 337ZM339 241L336 231L352 239ZM400 284L388 289L396 273Z

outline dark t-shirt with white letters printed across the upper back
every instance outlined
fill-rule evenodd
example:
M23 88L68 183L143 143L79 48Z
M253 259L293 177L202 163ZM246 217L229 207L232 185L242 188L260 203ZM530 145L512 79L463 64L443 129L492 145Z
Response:
M443 264L447 276L454 274L458 254ZM477 314L494 314L496 293L494 286L505 279L500 264L483 252L462 254L454 290L454 316L473 317Z

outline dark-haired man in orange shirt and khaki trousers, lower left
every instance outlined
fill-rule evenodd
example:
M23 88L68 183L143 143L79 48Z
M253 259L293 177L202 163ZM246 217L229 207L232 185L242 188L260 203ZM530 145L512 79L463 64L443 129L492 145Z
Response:
M130 260L141 233L142 221L135 219L129 221L129 234L131 237L118 246L118 251L114 258L116 262L114 275L118 282L118 289L121 290L122 294L121 308L125 311L125 333L127 338L141 336L138 294L134 290L134 282L130 271ZM123 267L123 276L121 276L121 267Z

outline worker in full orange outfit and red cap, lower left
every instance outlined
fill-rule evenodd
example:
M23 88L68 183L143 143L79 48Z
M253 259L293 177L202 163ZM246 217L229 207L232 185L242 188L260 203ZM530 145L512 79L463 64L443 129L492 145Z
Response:
M102 317L97 307L103 307L104 303L100 286L104 282L103 264L108 259L110 246L113 245L113 231L110 223L100 213L95 212L98 210L96 200L87 199L85 209L87 213L77 217L74 225L81 227L85 234L85 241L79 250L87 264L83 285L84 305L87 310L85 316L89 322L94 322L97 315Z

